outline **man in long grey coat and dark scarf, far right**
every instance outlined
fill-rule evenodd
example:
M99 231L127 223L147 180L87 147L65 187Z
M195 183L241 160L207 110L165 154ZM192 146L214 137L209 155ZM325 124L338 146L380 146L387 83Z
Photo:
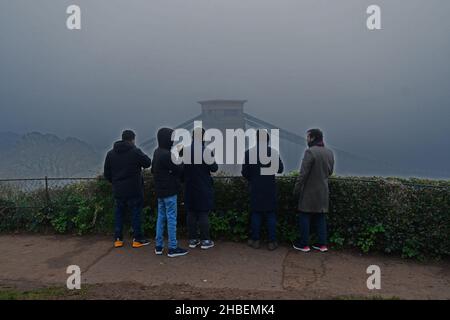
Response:
M298 210L300 223L300 241L294 249L309 252L309 229L311 220L317 223L319 243L313 249L328 251L327 227L325 214L329 206L328 178L333 174L334 155L325 147L323 133L320 129L307 131L308 149L306 149L300 174L294 187L294 194L299 197Z

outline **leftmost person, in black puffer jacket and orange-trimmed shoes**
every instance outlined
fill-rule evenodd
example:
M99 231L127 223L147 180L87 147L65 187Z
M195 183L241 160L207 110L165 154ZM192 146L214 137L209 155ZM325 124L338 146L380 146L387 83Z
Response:
M141 214L144 203L144 179L142 168L149 168L151 159L135 146L136 135L131 130L122 133L122 140L114 143L104 164L104 177L112 183L115 198L114 246L123 246L123 212L128 208L133 213L133 247L148 245L141 228Z

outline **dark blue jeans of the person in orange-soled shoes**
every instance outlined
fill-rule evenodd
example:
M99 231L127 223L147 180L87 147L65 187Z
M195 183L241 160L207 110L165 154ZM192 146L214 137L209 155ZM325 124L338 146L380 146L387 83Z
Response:
M123 230L123 214L126 207L131 210L132 220L131 224L133 227L133 236L135 239L142 238L141 229L141 213L142 207L144 205L144 199L142 197L128 198L128 199L118 199L116 198L116 205L114 210L114 238L122 239Z

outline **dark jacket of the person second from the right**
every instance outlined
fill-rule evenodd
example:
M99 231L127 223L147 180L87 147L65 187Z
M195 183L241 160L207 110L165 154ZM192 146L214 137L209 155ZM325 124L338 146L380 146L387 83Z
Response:
M257 150L256 150L257 152ZM272 152L276 152L270 147L267 155L270 156ZM250 208L253 212L275 211L277 208L277 188L275 182L275 175L261 175L261 168L270 167L261 164L259 161L259 154L257 153L257 163L249 163L250 150L245 152L245 161L242 165L242 176L249 181L250 185ZM283 161L278 156L278 173L284 170Z

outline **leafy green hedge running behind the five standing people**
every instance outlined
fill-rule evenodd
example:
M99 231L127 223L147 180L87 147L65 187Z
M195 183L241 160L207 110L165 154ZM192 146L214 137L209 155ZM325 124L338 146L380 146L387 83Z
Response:
M298 236L294 176L277 179L278 237L292 242ZM156 199L150 176L145 178L144 229L154 236ZM426 186L424 185L426 184ZM249 198L242 178L215 178L216 210L210 216L215 239L245 240L249 233ZM42 190L21 195L14 209L1 200L0 231L111 233L113 200L104 180L81 182L51 190L51 206L39 208ZM179 235L186 235L183 195L179 197ZM450 255L450 183L448 181L382 178L330 180L328 230L333 246L385 252L407 258ZM128 218L129 219L129 218ZM129 221L128 221L129 225Z

